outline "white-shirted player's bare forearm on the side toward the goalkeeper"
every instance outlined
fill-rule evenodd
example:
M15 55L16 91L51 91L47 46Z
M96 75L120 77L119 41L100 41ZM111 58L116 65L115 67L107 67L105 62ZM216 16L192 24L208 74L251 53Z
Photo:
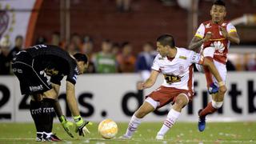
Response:
M152 70L150 78L147 78L145 82L138 82L138 90L143 90L154 85L158 78L159 72L157 70Z

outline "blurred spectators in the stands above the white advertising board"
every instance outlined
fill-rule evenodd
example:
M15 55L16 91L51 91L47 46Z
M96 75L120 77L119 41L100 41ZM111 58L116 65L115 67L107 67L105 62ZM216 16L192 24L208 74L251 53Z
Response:
M34 45L50 44L59 46L68 51L70 54L81 52L90 58L90 67L86 70L86 74L110 74L110 73L134 73L142 71L150 71L150 66L154 61L157 51L154 43L146 42L142 44L142 52L139 54L133 53L133 45L129 41L118 43L110 39L103 39L101 50L94 50L94 39L90 36L80 36L79 34L72 34L70 42L61 42L60 34L54 32L51 34L50 41L44 37L39 37ZM10 62L14 55L19 50L24 49L23 38L18 35L15 38L14 47L10 47L10 41L7 38L2 38L0 41L0 74L8 75L11 73ZM236 66L232 62L227 62L227 68L230 71L236 70ZM196 69L195 69L196 70ZM243 70L256 70L256 59L248 58Z

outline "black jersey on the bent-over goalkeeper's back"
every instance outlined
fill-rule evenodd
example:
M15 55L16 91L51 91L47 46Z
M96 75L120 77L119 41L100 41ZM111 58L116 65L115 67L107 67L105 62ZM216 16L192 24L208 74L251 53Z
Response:
M74 58L58 46L37 45L29 47L26 52L34 59L35 70L44 70L51 76L50 81L60 84L66 75L66 80L76 83L78 67Z

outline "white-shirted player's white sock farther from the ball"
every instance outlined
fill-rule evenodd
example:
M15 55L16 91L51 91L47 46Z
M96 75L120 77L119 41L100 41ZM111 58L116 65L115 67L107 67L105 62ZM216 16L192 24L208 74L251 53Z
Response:
M165 135L166 132L174 126L174 122L178 119L181 113L171 109L167 115L165 122L163 122L162 128L158 131L158 135Z

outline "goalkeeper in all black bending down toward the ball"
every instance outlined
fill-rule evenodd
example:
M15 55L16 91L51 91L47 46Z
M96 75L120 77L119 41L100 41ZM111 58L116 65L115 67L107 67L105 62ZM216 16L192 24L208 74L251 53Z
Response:
M18 77L22 94L30 94L30 114L37 130L36 141L60 141L51 133L54 110L62 126L70 136L70 122L62 114L58 91L61 80L66 76L66 102L73 115L79 135L84 136L86 125L78 110L74 85L78 74L88 66L85 54L68 54L58 46L37 45L22 50L15 55L12 63L14 74ZM50 80L46 77L50 76Z

